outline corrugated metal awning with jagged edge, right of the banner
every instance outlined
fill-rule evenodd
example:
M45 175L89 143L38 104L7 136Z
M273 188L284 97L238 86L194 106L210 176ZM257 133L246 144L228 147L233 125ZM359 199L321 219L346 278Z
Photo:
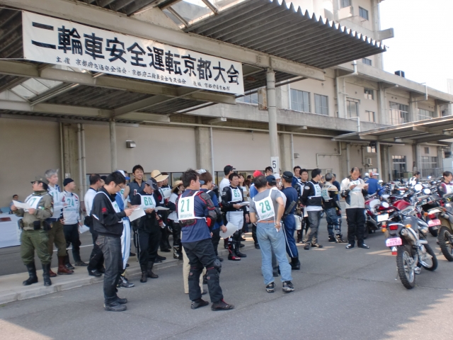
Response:
M320 69L386 51L377 40L278 0L246 0L184 30Z

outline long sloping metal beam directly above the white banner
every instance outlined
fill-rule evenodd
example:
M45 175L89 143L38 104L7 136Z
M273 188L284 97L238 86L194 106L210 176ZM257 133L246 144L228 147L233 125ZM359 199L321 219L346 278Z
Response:
M130 18L121 13L105 11L103 8L88 6L80 1L62 0L0 0L0 4L33 11L47 16L55 16L66 20L84 23L89 26L112 30L113 32L134 35L139 38L156 40L164 44L186 48L207 55L214 55L244 64L258 67L271 67L275 71L294 74L323 81L324 72L316 67L291 62L280 57L274 57L248 48L231 45L192 33L165 28L145 21Z

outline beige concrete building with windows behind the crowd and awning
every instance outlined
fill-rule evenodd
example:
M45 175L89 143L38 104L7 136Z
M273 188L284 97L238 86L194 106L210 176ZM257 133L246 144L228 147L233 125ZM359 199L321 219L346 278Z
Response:
M0 4L13 6L13 2L0 1ZM27 9L27 1L18 2ZM46 2L42 1L42 4ZM95 1L86 2L95 5ZM299 0L292 4L374 40L385 41L394 33L391 29L380 29L379 2ZM183 3L195 6L197 1ZM173 12L168 12L168 8L149 8L134 18L180 30L180 21L175 19ZM313 54L316 55L316 50ZM306 169L318 167L324 173L331 171L342 178L350 167L359 166L362 171L379 171L386 181L407 177L413 169L423 169L425 176L438 173L445 152L451 151L447 142L398 139L379 142L376 146L366 138L342 140L336 137L440 118L442 113L449 112L447 107L453 101L451 94L385 72L379 54L329 67L323 72L323 81L292 77L276 83L280 171L292 170L295 165ZM244 79L246 84L259 80L253 73ZM0 155L3 161L0 206L7 205L16 193L25 198L30 191L29 181L50 168L61 169L61 177L71 176L79 190L84 191L88 174L106 174L113 168L131 171L135 164L142 164L146 173L153 169L166 171L173 180L188 168L214 171L220 179L226 164L244 174L270 165L272 143L265 107L267 98L266 92L259 89L238 96L234 105L219 101L190 110L175 108L166 115L149 111L145 119L111 119L110 123L52 114L14 113L19 104L28 104L30 98L40 96L35 89L33 84L24 82L0 89ZM26 91L33 94L27 96ZM70 91L75 90L66 91L71 94ZM44 103L55 105L52 106L55 113L59 110L56 105L64 104L52 100ZM212 102L208 101L208 104ZM262 104L264 110L258 104ZM94 109L97 110L96 117L103 115L103 108L98 108L96 103L74 108L79 112ZM128 141L136 146L128 147ZM115 149L115 157L111 149Z

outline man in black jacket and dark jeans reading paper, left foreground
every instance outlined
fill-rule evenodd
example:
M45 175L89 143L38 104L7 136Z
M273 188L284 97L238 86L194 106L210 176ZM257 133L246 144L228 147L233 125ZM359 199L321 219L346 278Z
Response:
M116 295L116 285L122 273L122 217L130 216L135 208L120 211L115 201L115 194L121 190L120 184L125 183L125 176L119 172L108 175L105 185L96 193L91 208L93 229L98 232L96 244L101 248L105 261L104 309L111 312L127 310L127 299Z

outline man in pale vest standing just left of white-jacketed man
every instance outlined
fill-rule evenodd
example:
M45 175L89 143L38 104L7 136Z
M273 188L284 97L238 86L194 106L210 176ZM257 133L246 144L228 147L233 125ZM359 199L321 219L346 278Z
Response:
M324 211L326 212L328 242L343 243L341 228L338 224L338 217L341 218L341 207L338 201L338 189L333 185L332 174L326 174L326 183L321 189L324 200ZM335 229L335 233L333 230Z

